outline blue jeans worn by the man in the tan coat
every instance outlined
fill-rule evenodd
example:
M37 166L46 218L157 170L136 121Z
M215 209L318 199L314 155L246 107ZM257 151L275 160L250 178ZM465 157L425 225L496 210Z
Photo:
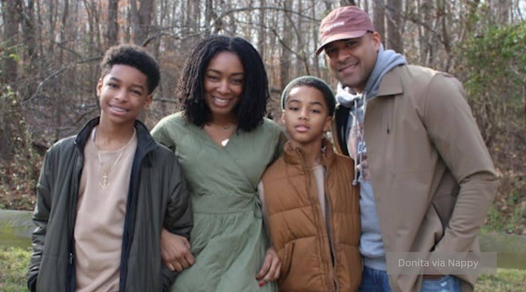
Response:
M459 278L451 275L438 279L424 279L421 292L460 292ZM358 292L391 292L389 277L385 270L363 267L362 281Z

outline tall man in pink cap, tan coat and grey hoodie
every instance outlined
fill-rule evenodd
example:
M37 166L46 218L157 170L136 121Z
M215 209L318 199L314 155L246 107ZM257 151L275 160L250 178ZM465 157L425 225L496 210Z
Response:
M472 290L471 275L386 272L390 252L480 252L498 182L460 82L384 50L355 6L325 17L320 38L316 54L339 81L335 145L355 159L360 183L359 290Z

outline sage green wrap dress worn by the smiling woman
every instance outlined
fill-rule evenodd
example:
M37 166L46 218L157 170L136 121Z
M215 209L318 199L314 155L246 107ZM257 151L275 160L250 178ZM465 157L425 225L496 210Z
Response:
M256 274L268 247L257 184L282 152L283 130L268 119L250 132L234 132L226 147L172 114L152 130L177 155L190 192L195 264L176 278L171 291L277 291L275 281L258 286Z

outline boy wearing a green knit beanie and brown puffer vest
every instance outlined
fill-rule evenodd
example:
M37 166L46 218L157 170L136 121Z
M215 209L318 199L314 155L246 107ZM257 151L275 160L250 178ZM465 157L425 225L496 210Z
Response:
M335 154L328 131L335 97L322 80L292 80L281 96L290 140L259 186L280 291L356 291L361 278L359 190L353 163Z

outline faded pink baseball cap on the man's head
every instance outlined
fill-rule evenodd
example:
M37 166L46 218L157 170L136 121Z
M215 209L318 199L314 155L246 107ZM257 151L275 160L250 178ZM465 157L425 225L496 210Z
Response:
M367 32L374 32L371 18L362 9L356 6L343 6L336 8L321 20L320 46L316 50L319 55L331 41L357 38Z

